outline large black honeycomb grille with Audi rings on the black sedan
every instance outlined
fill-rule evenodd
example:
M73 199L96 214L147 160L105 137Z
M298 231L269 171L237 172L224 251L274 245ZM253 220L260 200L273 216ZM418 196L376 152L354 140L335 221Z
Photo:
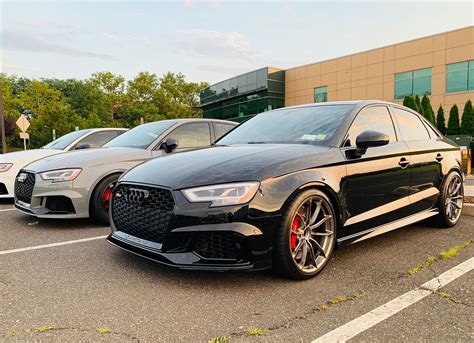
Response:
M162 243L174 205L167 189L120 184L112 197L112 219L118 231Z

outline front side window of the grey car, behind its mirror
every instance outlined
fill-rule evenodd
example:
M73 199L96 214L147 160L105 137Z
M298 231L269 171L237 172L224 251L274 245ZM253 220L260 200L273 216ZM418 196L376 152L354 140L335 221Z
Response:
M178 141L178 148L196 148L211 144L208 123L184 124L168 136Z

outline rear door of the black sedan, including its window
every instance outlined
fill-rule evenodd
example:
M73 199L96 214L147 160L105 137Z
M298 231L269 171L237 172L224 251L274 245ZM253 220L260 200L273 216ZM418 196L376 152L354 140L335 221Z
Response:
M393 106L392 111L401 137L410 150L411 172L409 195L411 213L428 210L436 205L439 188L443 180L443 142L431 137L417 114Z

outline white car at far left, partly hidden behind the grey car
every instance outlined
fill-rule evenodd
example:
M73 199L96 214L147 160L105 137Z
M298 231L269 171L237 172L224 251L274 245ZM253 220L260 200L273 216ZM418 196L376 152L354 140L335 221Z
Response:
M27 164L66 151L100 148L125 131L127 129L118 128L79 130L61 136L41 149L0 155L0 199L13 198L15 176Z

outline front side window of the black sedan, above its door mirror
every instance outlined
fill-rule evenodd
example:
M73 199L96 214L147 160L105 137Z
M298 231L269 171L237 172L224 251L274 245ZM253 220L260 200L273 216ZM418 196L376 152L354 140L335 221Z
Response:
M392 118L385 106L372 106L360 111L349 129L345 146L355 146L357 136L366 130L385 133L390 143L397 141Z

